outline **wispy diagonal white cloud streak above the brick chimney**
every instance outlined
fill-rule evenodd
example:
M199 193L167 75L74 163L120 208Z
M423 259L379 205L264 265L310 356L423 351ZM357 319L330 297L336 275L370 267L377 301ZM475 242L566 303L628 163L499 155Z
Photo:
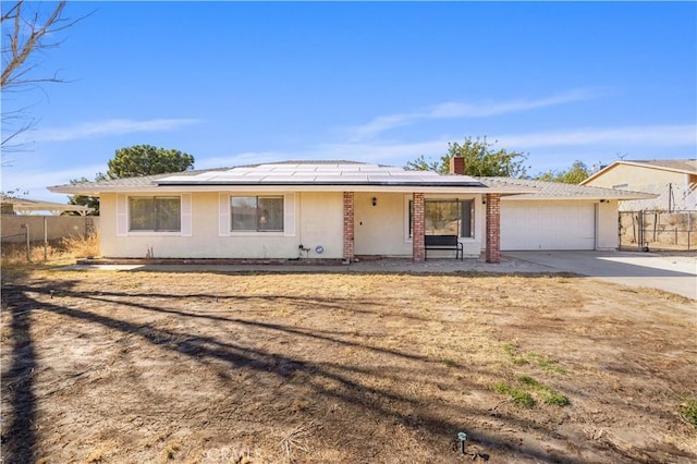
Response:
M529 111L537 108L564 105L575 101L589 100L601 95L598 89L574 89L563 94L540 99L515 99L510 101L481 101L477 103L464 103L457 101L447 101L435 105L423 111L411 113L396 113L380 115L372 121L350 127L354 142L376 137L384 131L417 123L418 121L437 119L460 119L460 118L488 118L500 114L509 114L521 111Z

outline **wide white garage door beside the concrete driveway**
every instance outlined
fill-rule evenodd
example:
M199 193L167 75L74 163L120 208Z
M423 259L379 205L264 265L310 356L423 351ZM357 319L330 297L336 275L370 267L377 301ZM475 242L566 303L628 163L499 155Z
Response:
M595 206L577 202L501 202L501 249L594 249Z

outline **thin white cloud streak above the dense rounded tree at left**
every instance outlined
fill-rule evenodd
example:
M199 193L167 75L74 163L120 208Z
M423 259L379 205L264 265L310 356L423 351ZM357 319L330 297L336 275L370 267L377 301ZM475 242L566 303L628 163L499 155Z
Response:
M69 127L39 129L22 134L22 138L23 142L68 142L131 134L134 132L173 131L200 122L201 121L197 119L151 119L145 121L112 119Z

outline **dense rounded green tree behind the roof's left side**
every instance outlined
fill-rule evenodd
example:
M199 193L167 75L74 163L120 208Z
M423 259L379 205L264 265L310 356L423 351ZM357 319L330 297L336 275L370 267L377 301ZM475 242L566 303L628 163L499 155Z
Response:
M134 145L118 149L108 162L108 179L181 172L194 167L194 157L175 149Z

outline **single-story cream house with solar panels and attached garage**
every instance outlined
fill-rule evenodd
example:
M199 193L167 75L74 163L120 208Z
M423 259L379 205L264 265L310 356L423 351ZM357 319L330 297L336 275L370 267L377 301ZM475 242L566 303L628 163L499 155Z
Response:
M647 197L470 178L456 174L464 172L462 158L453 160L451 172L279 162L49 190L100 197L105 257L346 261L423 261L424 235L441 234L457 235L465 256L484 251L489 262L499 261L501 249L615 249L617 200ZM515 195L525 196L513 200Z

